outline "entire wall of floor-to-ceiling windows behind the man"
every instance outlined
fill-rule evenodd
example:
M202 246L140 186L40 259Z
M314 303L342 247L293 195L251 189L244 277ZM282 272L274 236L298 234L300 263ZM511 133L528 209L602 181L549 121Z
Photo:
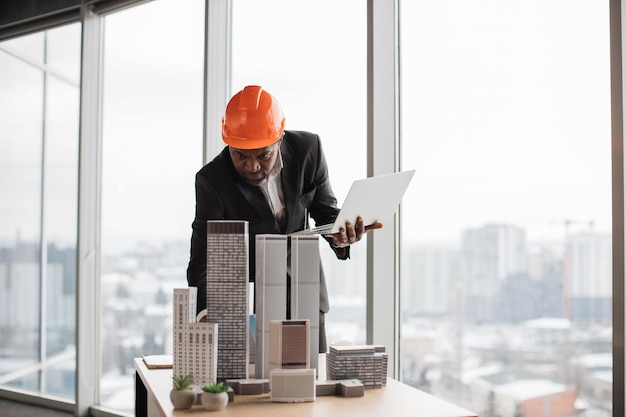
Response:
M609 2L588 0L232 0L232 25L207 28L208 51L205 4L227 2L82 2L105 14L82 13L85 47L104 49L102 62L97 47L83 50L81 123L81 24L0 26L0 36L28 33L0 42L2 394L132 414L133 358L172 349L171 295L187 285L215 79L230 94L262 85L287 129L320 134L341 204L366 176L368 122L378 132L383 120L380 106L367 119L368 29L376 56L397 40L378 14L368 28L367 7L395 3L400 79L374 71L369 92L399 82L401 168L416 170L400 226L400 378L486 417L532 415L531 404L610 415ZM74 11L52 17L78 21ZM205 86L205 52L209 68L232 73L209 71ZM372 137L376 149L391 149L391 136ZM222 146L205 139L206 149ZM102 166L79 165L79 149ZM80 229L77 207L89 208ZM88 260L76 257L77 235ZM84 245L85 236L94 239ZM328 341L365 343L366 312L381 304L366 306L366 242L348 261L326 246ZM77 263L96 265L80 274L81 284L99 280L93 293L78 285ZM101 343L78 344L89 372L76 369L77 317L88 317L79 335ZM85 351L97 351L93 364Z

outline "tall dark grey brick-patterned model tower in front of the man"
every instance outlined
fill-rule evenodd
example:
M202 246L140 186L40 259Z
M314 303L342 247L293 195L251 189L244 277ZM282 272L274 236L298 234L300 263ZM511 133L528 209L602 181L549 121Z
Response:
M207 221L207 321L217 323L217 379L247 379L248 222Z

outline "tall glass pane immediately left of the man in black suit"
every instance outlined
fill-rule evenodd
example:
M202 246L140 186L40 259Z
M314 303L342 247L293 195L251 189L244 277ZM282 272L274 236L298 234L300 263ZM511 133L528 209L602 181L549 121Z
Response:
M133 358L172 354L172 290L187 286L204 2L149 2L105 28L100 405L132 413Z

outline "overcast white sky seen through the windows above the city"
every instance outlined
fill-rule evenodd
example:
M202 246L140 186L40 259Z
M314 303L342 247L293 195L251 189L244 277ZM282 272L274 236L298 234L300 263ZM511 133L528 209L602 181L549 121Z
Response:
M190 232L202 157L202 3L158 0L107 17L107 232ZM488 222L531 238L561 237L565 220L610 232L606 3L400 2L402 165L417 171L403 204L405 238L458 240ZM366 175L365 31L360 0L234 2L233 92L261 84L281 101L288 128L321 135L340 201ZM61 68L75 78L72 65ZM13 67L3 68L7 80ZM15 103L14 84L0 82L3 109ZM0 119L4 137L9 119ZM2 154L17 154L20 141L3 140ZM13 184L8 166L3 190ZM7 204L2 230L34 227Z

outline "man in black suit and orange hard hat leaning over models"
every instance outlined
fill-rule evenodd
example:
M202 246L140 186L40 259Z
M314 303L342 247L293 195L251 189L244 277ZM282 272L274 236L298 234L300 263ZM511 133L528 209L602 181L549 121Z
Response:
M255 277L257 234L288 234L316 224L332 223L339 208L328 180L319 136L286 131L280 104L260 86L235 94L222 119L222 152L196 174L196 215L192 224L187 281L198 287L198 311L206 308L207 220L247 220L250 281ZM305 219L306 218L306 219ZM350 257L350 245L369 230L361 218L338 233L323 236L337 258ZM326 351L323 313L328 294L320 273L320 352Z

